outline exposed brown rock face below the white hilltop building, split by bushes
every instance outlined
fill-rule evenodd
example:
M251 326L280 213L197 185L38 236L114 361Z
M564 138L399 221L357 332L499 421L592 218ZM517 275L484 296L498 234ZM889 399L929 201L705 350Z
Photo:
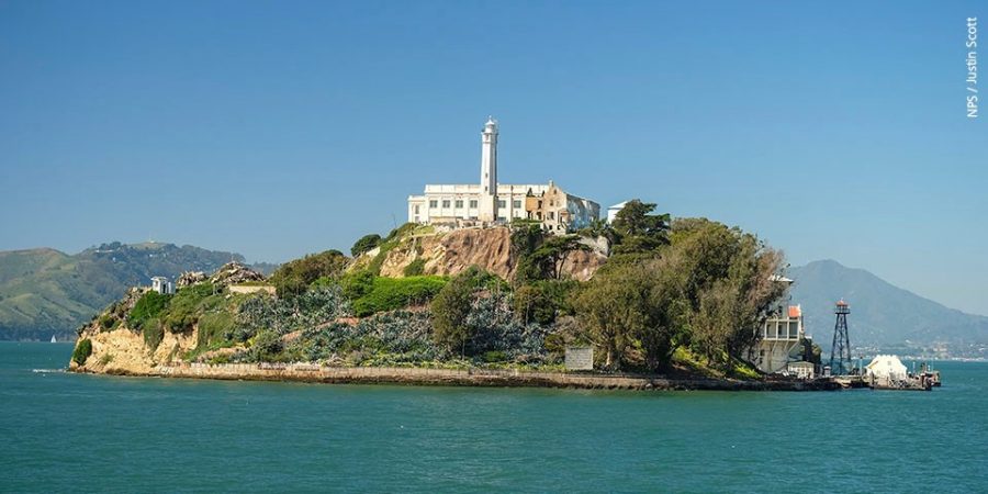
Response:
M423 259L424 274L454 276L478 266L509 280L518 266L516 257L507 227L457 229L404 239L386 254L381 276L401 278L408 265ZM598 248L572 251L562 265L562 276L586 281L606 260Z

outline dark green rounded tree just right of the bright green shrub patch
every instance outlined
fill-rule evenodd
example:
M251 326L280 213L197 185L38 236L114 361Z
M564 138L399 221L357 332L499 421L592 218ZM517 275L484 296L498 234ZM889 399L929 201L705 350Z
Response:
M433 299L430 304L433 317L433 339L452 352L465 353L470 339L470 327L467 317L473 299L473 282L470 276L457 276Z

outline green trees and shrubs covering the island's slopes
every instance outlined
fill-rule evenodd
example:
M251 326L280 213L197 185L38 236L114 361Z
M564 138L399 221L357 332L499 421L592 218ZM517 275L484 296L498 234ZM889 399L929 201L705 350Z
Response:
M784 289L771 281L782 255L739 228L653 210L631 201L613 227L596 223L576 235L517 222L510 280L476 267L422 276L420 258L404 278L381 277L382 256L420 232L403 225L351 249L377 248L372 257L329 250L285 263L270 277L277 296L232 294L207 281L171 296L146 293L126 326L149 349L165 332L198 328L186 357L214 361L543 367L558 366L568 345L591 344L605 370L745 375L739 357ZM594 245L587 236L609 239L613 255L590 281L566 279L561 263Z

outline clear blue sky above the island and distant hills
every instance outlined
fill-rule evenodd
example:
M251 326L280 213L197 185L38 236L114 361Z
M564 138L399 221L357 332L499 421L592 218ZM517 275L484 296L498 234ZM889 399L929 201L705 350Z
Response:
M348 250L423 184L555 180L988 314L984 2L0 0L0 249ZM980 27L980 26L979 26Z

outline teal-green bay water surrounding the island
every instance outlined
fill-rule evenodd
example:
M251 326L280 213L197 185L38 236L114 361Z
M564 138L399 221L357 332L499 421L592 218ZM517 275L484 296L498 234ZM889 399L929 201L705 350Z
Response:
M3 492L988 492L988 363L932 392L77 375L0 343Z

